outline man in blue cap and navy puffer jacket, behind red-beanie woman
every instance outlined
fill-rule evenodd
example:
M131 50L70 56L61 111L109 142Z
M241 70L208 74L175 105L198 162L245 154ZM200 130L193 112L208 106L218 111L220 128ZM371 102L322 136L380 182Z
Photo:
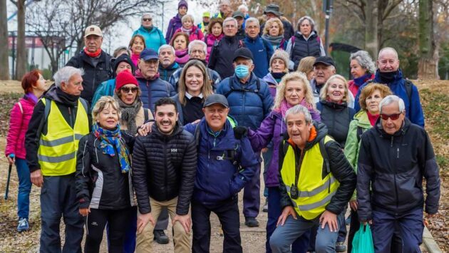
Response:
M135 71L135 78L138 80L139 88L142 91L140 98L143 107L154 112L156 101L160 98L170 98L176 95L176 92L170 83L159 78L159 56L156 51L145 48L140 53L138 66L139 69Z

